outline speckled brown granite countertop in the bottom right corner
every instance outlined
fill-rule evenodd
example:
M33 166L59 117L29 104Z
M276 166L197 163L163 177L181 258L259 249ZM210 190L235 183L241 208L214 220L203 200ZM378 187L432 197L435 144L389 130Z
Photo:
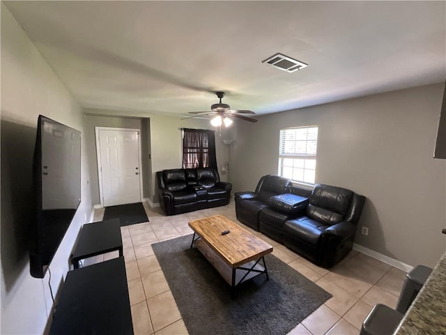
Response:
M395 334L446 334L446 253L438 261Z

